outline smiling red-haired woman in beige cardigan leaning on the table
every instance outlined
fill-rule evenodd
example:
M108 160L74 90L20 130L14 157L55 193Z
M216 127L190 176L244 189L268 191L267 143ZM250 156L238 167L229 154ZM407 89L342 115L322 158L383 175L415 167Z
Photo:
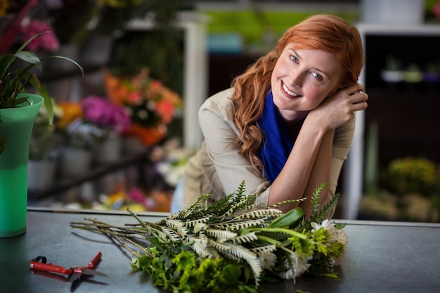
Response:
M199 119L205 141L183 177L183 206L202 194L212 200L245 181L264 206L335 195L354 134L355 112L368 96L357 84L361 37L334 15L313 15L291 27L278 46L208 98ZM292 209L297 204L286 206ZM306 216L311 201L299 203Z

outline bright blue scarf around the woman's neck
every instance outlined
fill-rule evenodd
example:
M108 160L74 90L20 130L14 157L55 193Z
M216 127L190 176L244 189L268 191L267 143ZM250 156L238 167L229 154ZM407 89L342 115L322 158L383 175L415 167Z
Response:
M264 131L259 158L263 162L264 175L270 183L273 183L283 169L295 139L287 130L278 108L273 104L272 91L266 96L264 110L258 119L258 124Z

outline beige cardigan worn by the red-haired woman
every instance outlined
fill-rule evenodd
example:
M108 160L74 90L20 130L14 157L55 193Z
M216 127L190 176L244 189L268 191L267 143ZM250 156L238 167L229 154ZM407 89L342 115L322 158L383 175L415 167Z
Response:
M234 193L242 181L246 184L246 194L259 194L257 201L264 207L268 203L270 183L262 177L240 155L231 141L239 131L233 123L233 107L230 97L233 89L226 89L208 98L199 110L199 123L205 140L202 148L190 157L183 176L183 207L187 207L196 197L210 194L212 200L219 200ZM351 147L355 119L338 127L332 148L330 174L330 194L334 195L344 160Z

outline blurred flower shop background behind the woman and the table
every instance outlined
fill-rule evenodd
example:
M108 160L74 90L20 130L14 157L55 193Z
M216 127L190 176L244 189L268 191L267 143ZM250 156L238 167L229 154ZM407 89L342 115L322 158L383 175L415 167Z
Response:
M0 53L27 46L56 105L30 145L28 205L169 211L202 143L203 100L276 45L288 27L330 13L358 27L358 113L338 190L339 219L439 222L440 1L3 0Z

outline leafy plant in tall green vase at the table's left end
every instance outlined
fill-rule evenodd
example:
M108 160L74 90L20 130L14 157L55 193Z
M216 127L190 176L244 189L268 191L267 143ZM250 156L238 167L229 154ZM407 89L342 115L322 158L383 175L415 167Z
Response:
M48 58L66 59L84 70L74 60L63 56L47 56L41 60L25 47L41 34L25 41L15 53L0 56L0 237L25 233L27 207L27 169L30 136L41 104L46 105L49 124L53 121L53 105L37 75L41 61ZM22 67L16 62L24 60ZM33 89L31 93L29 91Z

